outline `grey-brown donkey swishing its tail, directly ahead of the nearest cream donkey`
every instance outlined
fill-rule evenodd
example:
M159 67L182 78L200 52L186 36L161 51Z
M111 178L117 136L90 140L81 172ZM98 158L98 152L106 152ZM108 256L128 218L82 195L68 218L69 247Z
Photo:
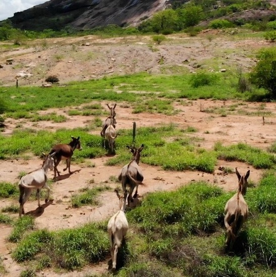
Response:
M124 167L121 169L121 173L118 176L119 181L122 182L122 189L123 191L126 190L126 186L129 185L129 194L127 197L127 205L129 206L129 202L133 201L133 198L137 197L137 191L139 184L142 184L144 180L143 173L139 167L139 161L140 161L140 153L144 149L144 144L140 146L140 148L135 147L129 147L129 151L132 153L132 160L124 165ZM134 188L136 187L136 191L132 198L132 192Z

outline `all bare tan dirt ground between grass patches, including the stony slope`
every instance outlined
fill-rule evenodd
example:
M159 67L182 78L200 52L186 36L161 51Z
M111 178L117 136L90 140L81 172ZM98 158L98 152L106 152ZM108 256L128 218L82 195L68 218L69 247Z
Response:
M43 49L42 46L33 46L23 47L19 50L2 51L0 52L0 63L10 58L16 62L13 62L13 65L5 65L3 69L0 69L0 84L14 84L16 72L19 71L17 68L20 70L24 68L27 73L33 74L30 77L18 77L19 83L32 85L41 85L45 76L53 74L58 74L62 82L67 82L94 77L98 78L106 74L126 74L143 70L160 72L162 68L158 64L158 61L161 56L165 57L167 68L179 65L181 68L185 67L185 70L193 71L195 70L195 64L205 64L204 66L210 67L210 70L213 70L213 68L218 70L219 68L230 67L233 63L236 63L237 65L244 65L244 68L248 69L254 65L255 61L253 58L248 58L250 55L247 54L254 52L266 43L261 39L235 40L228 35L222 36L220 39L217 39L215 36L212 41L209 41L204 35L202 34L200 37L203 42L196 39L188 39L184 35L183 37L178 35L175 38L171 36L170 42L164 45L153 46L157 47L159 49L158 51L152 51L150 47L145 46L149 45L150 37L143 39L136 37L114 39L96 39L94 37L53 39L52 44L46 49ZM90 42L90 45L82 45L83 42ZM35 42L32 43L35 44ZM43 41L36 43L39 45ZM58 46L55 45L57 43ZM78 56L79 58L76 59L76 57L71 56L74 51L80 55ZM54 61L54 59L57 60L58 58L53 58L54 55L61 55L62 52L63 58L59 61ZM94 60L86 61L84 57L87 58L87 55L90 55L92 57L91 59ZM185 59L188 60L188 65L182 63ZM70 61L73 62L71 63ZM206 61L211 61L211 64ZM24 65L30 66L27 67ZM3 90L5 90L5 87L0 88L0 91ZM221 141L224 145L244 142L266 149L276 139L276 106L274 103L265 103L262 106L260 106L260 103L243 103L243 105L239 106L239 110L243 113L236 111L229 113L226 117L215 113L200 112L200 110L204 111L215 107L229 107L237 103L240 103L240 101L195 100L189 101L186 105L177 103L175 104L175 108L179 109L180 112L175 116L160 116L147 113L134 115L131 113L131 108L125 108L122 103L117 103L116 129L131 128L133 121L139 127L177 123L179 128L183 129L189 126L194 127L197 132L192 133L191 136L202 138L200 144L204 148L212 149L215 142ZM105 102L102 102L103 106L105 104ZM64 114L66 109L51 109L47 112ZM256 112L259 113L257 114ZM262 112L270 112L269 117L265 117L265 124L263 124ZM7 127L3 134L9 136L15 126L20 123L24 124L26 128L55 130L62 127L72 129L75 127L85 127L93 120L93 117L71 117L67 116L67 114L66 117L68 120L65 123L39 122L35 126L26 120L7 119L5 121ZM94 133L99 134L100 130ZM78 134L72 135L77 136ZM90 221L108 219L118 208L118 201L114 192L107 191L101 193L99 196L100 205L97 207L85 206L79 209L71 208L70 198L72 194L78 193L80 188L87 187L91 183L91 180L94 180L94 184L97 186L99 184L108 184L112 188L120 186L119 183L113 183L109 179L110 176L118 176L120 172L120 167L106 167L105 162L109 158L106 156L91 159L90 161L95 164L93 168L72 162L71 170L73 174L69 175L67 172L62 172L58 180L52 185L51 197L53 198L53 202L47 203L47 205L44 204L42 209L37 209L36 201L28 201L25 204L25 210L27 213L35 216L36 227L57 230L77 227ZM42 161L33 157L30 160L1 160L0 164L0 181L17 183L20 172L29 172L37 169L41 166ZM62 170L63 166L64 163L60 163L58 168ZM262 174L262 171L248 167L247 164L223 160L218 161L214 174L196 171L164 171L158 167L151 167L144 164L142 152L141 168L145 179L143 182L144 185L139 187L139 198L137 201L143 201L143 197L148 192L173 190L179 186L198 180L208 181L222 187L226 191L235 190L237 188L236 175L223 175L219 167L228 167L233 170L237 167L241 173L245 173L250 169L249 179L254 183L258 182ZM52 178L53 172L49 172L48 177ZM90 184L90 186L93 186L93 184ZM0 208L12 202L11 200L2 200L0 202ZM17 201L14 201L14 203L18 204ZM19 276L24 266L12 260L10 253L14 245L6 241L12 228L2 225L1 229L0 253L4 258L5 267L9 272L6 276ZM81 272L74 271L56 274L52 271L45 270L38 275L77 277L84 276L86 273L97 274L106 272L107 268L108 265L106 263L101 263L97 266L86 267Z

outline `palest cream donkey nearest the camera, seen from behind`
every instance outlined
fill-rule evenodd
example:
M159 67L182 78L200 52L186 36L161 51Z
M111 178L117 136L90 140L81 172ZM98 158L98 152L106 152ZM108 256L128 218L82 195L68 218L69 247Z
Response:
M112 269L116 269L118 248L121 247L122 241L128 230L128 223L125 216L125 206L127 191L124 191L124 195L120 196L118 191L115 190L120 202L119 210L109 219L107 225L107 231L109 234L110 246L111 246L111 258Z

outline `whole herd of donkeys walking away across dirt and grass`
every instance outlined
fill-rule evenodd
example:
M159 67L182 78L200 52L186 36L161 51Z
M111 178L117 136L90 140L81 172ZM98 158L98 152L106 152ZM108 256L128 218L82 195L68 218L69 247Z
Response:
M107 104L110 115L108 118L103 121L101 137L104 142L108 142L108 147L111 152L114 151L114 142L116 138L116 113L115 107L109 106ZM143 173L139 167L140 154L144 148L142 144L139 148L129 147L129 151L132 153L132 159L129 163L124 165L121 169L121 172L118 176L119 181L122 184L123 195L121 196L117 190L115 190L118 198L119 198L119 210L110 218L108 221L108 234L111 245L111 258L112 258L112 269L116 269L116 259L118 248L121 247L122 241L126 232L128 230L128 223L125 216L126 205L129 206L130 201L133 201L133 198L137 197L137 189L139 184L141 184L144 180ZM19 216L24 214L24 204L28 200L29 196L33 189L36 190L36 196L38 199L38 206L40 207L40 190L42 188L47 189L45 202L49 199L50 188L48 187L47 181L47 171L54 170L54 178L56 178L56 174L59 176L60 173L57 170L57 165L61 161L61 159L65 159L66 168L63 171L68 169L68 172L72 174L70 171L71 157L75 149L82 149L80 137L75 138L72 137L72 141L68 144L56 144L52 147L51 151L44 155L44 161L42 167L38 170L32 171L25 176L23 176L19 182ZM233 244L237 238L238 232L242 227L242 224L247 219L248 215L248 206L244 200L244 195L247 189L247 179L249 177L250 171L248 170L245 175L240 175L236 168L236 175L238 177L238 191L237 193L231 197L225 206L225 218L224 224L226 227L226 246L228 249L232 249ZM127 186L129 187L129 191L127 191ZM132 197L133 190L136 188L135 193Z

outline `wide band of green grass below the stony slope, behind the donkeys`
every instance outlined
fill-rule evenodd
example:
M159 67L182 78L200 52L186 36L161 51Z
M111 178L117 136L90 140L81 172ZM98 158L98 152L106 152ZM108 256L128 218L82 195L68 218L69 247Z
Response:
M212 76L212 74L210 74ZM215 74L213 74L215 76ZM150 112L173 114L172 99L249 99L252 94L238 93L232 86L231 74L220 78L215 84L193 88L189 84L192 74L150 75L138 73L133 75L104 77L98 80L72 82L66 87L5 87L5 117L34 118L37 120L64 121L64 116L49 114L38 116L36 112L48 108L64 108L88 104L96 101L135 102L135 113ZM222 89L223 87L223 89ZM114 90L116 88L116 90ZM0 89L1 91L1 89ZM117 91L122 91L118 93ZM89 92L89 93L88 93ZM139 92L139 93L133 93ZM29 99L32 101L29 101ZM12 101L9 99L12 98ZM162 99L163 98L163 99ZM134 105L133 105L134 107ZM101 115L99 103L84 106L87 115ZM87 113L85 112L85 114ZM71 114L74 112L70 112ZM83 112L82 112L83 113Z

